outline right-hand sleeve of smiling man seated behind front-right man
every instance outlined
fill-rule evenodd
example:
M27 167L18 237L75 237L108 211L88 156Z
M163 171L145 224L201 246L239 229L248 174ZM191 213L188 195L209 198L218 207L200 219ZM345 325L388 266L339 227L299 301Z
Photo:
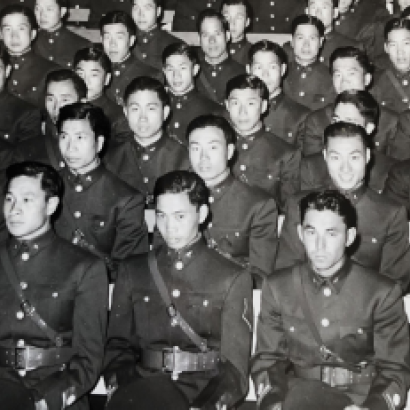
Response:
M382 250L380 272L391 277L406 292L410 283L409 224L404 207L397 207L391 218Z

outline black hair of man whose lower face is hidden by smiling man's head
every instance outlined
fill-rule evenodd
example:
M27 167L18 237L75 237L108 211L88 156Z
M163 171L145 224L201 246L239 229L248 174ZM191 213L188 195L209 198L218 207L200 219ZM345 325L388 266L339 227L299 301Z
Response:
M345 90L336 96L334 108L339 104L354 105L366 123L377 125L379 121L379 104L368 91Z

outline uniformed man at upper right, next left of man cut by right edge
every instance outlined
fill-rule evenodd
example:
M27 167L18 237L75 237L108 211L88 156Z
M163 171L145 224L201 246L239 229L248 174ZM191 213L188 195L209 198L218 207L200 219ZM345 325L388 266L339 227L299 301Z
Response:
M283 89L293 100L311 110L329 104L334 97L327 66L319 61L325 27L316 17L301 15L292 22L295 61L288 64Z

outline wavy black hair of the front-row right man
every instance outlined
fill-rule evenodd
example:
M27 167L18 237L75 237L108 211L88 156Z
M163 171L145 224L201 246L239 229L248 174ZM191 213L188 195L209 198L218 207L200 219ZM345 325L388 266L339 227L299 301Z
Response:
M357 227L357 213L352 203L336 189L311 192L299 202L300 221L303 224L308 210L332 211L342 217L346 228Z

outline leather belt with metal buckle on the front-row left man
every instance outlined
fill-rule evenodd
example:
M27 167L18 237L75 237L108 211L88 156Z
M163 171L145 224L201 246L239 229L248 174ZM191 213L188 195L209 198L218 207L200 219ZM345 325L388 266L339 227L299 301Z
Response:
M0 347L0 366L34 370L67 363L73 354L74 349L71 347Z

